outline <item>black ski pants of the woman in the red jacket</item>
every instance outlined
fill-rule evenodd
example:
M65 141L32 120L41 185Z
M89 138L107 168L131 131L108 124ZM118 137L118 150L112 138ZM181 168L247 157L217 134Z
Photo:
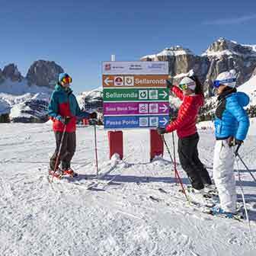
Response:
M178 155L181 166L186 171L192 187L203 189L204 184L212 184L208 171L198 157L198 133L178 139Z

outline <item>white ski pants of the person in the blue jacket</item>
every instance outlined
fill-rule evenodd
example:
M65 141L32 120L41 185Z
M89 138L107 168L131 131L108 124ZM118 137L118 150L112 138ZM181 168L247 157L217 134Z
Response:
M236 212L236 191L232 147L226 140L217 140L213 158L213 179L219 192L220 206L222 210Z

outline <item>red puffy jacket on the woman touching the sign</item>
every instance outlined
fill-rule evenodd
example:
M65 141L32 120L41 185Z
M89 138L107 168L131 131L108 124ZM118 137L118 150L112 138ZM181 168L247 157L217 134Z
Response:
M186 96L177 86L174 86L171 91L183 102L178 110L177 119L166 126L166 131L171 133L177 130L179 138L197 133L197 114L200 107L203 106L203 95L193 94Z

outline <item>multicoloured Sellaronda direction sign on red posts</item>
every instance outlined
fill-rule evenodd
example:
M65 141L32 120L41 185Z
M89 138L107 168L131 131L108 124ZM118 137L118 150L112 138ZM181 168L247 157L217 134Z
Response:
M103 62L104 129L165 127L169 120L167 78L168 62ZM150 134L151 141L161 140L155 131ZM113 132L109 133L110 140L111 136ZM162 140L156 144L161 153ZM110 145L114 145L113 141ZM151 145L151 158L154 154L154 145Z

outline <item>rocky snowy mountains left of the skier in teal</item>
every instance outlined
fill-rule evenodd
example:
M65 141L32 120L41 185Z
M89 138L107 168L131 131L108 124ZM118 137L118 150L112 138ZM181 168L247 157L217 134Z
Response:
M45 60L34 62L26 77L14 64L0 69L0 122L45 122L59 72L60 66Z

